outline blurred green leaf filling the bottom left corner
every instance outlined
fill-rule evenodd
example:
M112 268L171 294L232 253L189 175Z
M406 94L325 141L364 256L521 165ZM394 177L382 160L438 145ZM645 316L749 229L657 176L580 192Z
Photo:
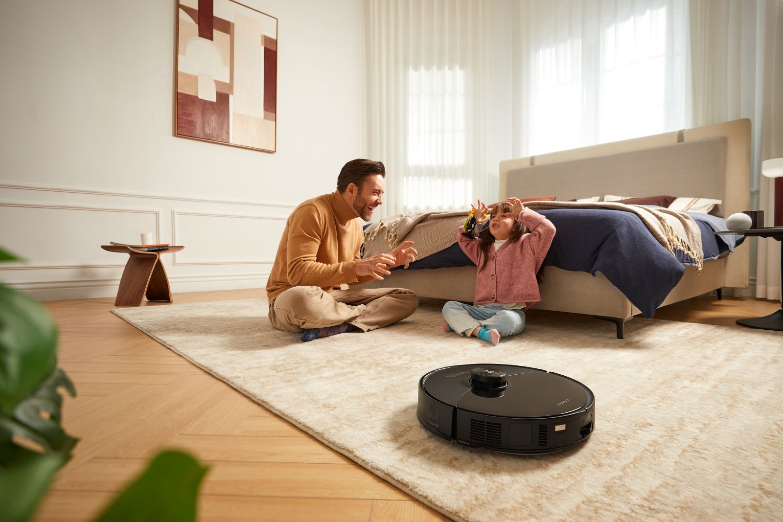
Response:
M23 458L17 459L13 469L0 473L0 506L5 522L30 520L54 474L65 463L63 455L19 449L24 452Z

